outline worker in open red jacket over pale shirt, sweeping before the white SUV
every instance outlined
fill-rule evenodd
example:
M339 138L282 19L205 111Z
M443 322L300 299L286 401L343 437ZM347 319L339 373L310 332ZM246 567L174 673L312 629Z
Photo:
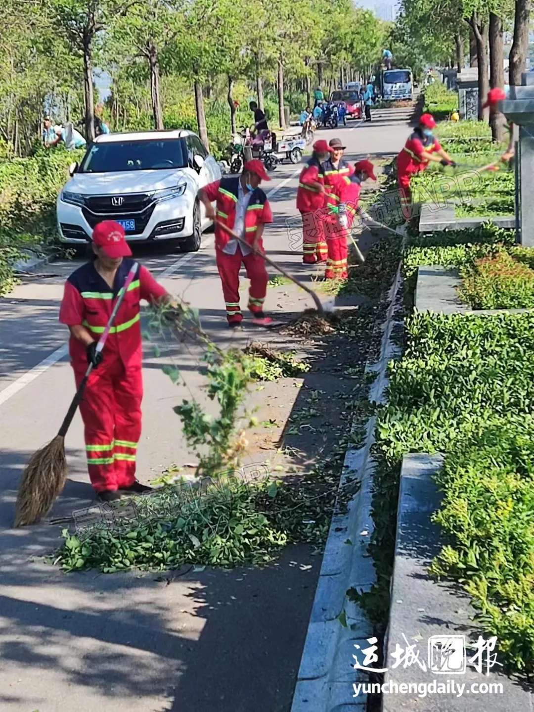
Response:
M272 212L267 196L260 188L262 180L270 180L260 160L247 161L242 174L223 178L201 189L199 198L210 219L223 222L250 247L240 245L220 226L215 224L215 256L226 305L226 318L230 328L240 328L242 313L239 298L239 273L245 265L250 279L248 308L253 322L269 325L272 319L265 316L263 303L267 294L265 261L252 248L263 252L262 234L266 223L272 222ZM212 202L215 201L215 209Z

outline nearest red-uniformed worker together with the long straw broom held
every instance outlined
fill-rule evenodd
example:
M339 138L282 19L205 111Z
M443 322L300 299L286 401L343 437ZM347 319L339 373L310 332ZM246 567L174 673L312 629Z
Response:
M151 490L135 478L143 392L139 300L157 304L172 298L146 268L129 259L132 251L118 223L97 224L92 248L94 261L70 275L60 308L60 322L70 330L77 390L58 434L23 471L15 526L40 520L63 490L65 435L78 407L87 468L99 499L111 502Z

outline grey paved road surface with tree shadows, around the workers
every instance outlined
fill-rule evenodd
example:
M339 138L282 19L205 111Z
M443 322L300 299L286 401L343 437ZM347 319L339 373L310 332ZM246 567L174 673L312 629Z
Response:
M377 113L372 124L351 122L320 135L341 136L348 159L385 157L402 146L406 118L392 110ZM265 243L269 256L311 279L313 268L303 273L286 226L295 215L300 169L279 167L268 184L276 219ZM169 291L200 309L214 340L244 344L255 332L228 332L213 251L208 233L198 253L139 248L137 254ZM57 318L63 282L75 266L53 263L46 267L51 276L26 281L0 300L0 709L287 710L321 563L307 548L288 548L262 570L184 572L171 583L155 575L64 576L42 558L60 543L60 527L11 528L21 469L55 435L73 393ZM274 312L306 306L302 292L287 288L271 290L266 303ZM194 350L158 359L146 352L141 480L191 460L171 407L189 392L203 398L197 357ZM170 387L160 368L167 362L177 362L186 388ZM292 399L286 401L287 414ZM92 500L78 416L67 444L69 480L56 516Z

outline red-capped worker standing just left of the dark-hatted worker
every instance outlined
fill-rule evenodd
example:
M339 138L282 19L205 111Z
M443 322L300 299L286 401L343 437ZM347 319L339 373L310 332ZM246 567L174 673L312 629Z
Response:
M328 246L324 234L325 205L324 175L321 164L331 155L333 149L325 140L314 143L311 159L301 171L297 189L297 210L302 216L302 261L315 264L326 261Z

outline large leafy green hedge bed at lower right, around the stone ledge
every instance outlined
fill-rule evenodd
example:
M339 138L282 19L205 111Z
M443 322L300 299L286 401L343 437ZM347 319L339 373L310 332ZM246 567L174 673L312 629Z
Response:
M389 403L380 408L375 431L378 584L355 595L383 624L402 457L442 452L442 483L454 479L454 491L445 492L437 518L452 540L434 571L466 587L508 664L532 673L534 315L417 314L407 336L404 357L390 365ZM487 449L480 453L481 443Z

